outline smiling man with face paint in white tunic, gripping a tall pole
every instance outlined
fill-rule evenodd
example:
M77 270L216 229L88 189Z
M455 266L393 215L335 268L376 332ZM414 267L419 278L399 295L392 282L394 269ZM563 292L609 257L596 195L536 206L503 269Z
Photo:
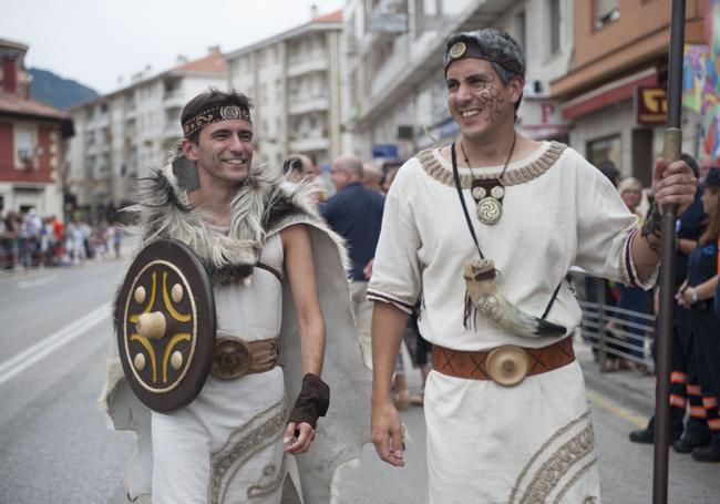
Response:
M573 265L650 288L665 205L692 200L683 162L656 162L642 228L615 187L572 148L515 130L522 48L483 29L452 35L449 146L408 161L385 200L368 286L373 313L372 435L404 464L390 380L405 318L433 344L425 385L430 502L596 502L600 498L583 373L572 338L582 310Z

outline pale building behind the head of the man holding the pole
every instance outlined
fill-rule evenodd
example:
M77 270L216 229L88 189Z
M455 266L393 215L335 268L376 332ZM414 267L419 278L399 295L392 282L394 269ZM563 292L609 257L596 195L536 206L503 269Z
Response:
M537 140L567 138L569 124L549 82L569 64L570 0L351 0L344 12L344 121L364 158L402 161L457 135L446 106L445 41L486 27L506 30L526 51L518 130Z

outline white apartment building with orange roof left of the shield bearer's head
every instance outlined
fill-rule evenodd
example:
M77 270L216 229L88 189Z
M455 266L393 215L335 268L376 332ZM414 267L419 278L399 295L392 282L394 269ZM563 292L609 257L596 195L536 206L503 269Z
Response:
M182 140L185 103L208 86L225 89L219 48L204 58L152 74L148 70L113 93L71 109L76 134L70 144L69 192L93 219L133 198L137 177L161 167Z

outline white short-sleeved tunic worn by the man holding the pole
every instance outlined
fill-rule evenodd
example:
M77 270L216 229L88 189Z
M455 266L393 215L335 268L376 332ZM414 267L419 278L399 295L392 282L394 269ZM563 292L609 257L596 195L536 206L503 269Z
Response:
M451 349L545 347L562 339L511 335L482 316L476 326L464 327L462 266L479 254L451 164L439 150L425 153L425 160L424 165L408 161L388 194L369 299L409 311L422 291L420 331L428 341ZM475 175L497 176L501 169L475 168ZM637 282L629 254L637 217L609 181L572 148L545 142L528 158L508 165L503 216L492 226L474 215L471 172L460 168L460 174L480 247L501 271L500 289L522 310L539 317L573 265ZM572 332L580 319L575 296L563 282L547 320ZM425 420L431 502L470 502L470 496L482 503L599 500L592 425L576 362L514 388L432 372ZM569 449L575 457L566 456ZM563 462L568 460L572 464Z

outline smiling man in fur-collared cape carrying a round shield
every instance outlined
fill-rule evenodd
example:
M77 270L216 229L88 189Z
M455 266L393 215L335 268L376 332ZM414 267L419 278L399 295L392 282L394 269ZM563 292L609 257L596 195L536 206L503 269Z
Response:
M116 301L102 398L115 428L140 436L128 497L147 495L152 474L154 503L329 498L363 435L348 422L341 446L336 423L362 401L316 431L330 393L320 374L341 400L352 399L344 387L368 385L341 240L305 186L289 193L280 171L253 163L247 96L210 89L181 122L183 155L144 179L133 207L140 251ZM315 459L294 457L311 444Z

